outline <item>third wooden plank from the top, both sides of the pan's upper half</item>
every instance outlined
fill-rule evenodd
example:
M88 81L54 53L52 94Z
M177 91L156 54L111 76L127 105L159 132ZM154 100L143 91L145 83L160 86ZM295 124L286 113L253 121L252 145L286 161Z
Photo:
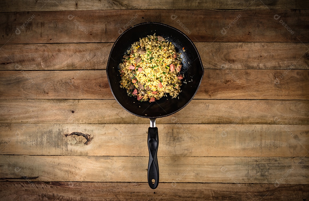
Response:
M309 69L309 43L195 42L205 69ZM113 43L6 44L0 70L106 69Z

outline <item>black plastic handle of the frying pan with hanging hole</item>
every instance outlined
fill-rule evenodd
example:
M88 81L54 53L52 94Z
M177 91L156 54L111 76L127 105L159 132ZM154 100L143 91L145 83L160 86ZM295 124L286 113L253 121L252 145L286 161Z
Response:
M157 127L148 128L148 184L150 188L155 189L159 184L159 165L157 159L157 152L159 146L159 135Z

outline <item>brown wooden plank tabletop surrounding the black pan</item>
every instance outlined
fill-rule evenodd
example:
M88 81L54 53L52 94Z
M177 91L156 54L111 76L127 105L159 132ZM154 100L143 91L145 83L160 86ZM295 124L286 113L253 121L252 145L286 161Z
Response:
M308 200L308 1L19 1L0 7L1 200ZM128 27L185 32L205 75L147 128L106 77ZM66 136L82 132L84 136Z

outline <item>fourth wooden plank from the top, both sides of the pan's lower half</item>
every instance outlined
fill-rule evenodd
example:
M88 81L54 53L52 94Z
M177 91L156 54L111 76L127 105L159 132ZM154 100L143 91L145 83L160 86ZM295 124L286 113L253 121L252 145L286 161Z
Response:
M105 70L1 73L0 99L114 99ZM208 69L195 98L308 100L308 86L309 70Z

